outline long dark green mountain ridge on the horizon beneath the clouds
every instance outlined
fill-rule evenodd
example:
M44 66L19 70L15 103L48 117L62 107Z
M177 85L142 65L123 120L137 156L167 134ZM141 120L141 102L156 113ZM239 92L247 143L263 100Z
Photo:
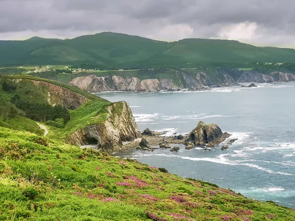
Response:
M102 32L74 39L32 37L0 41L0 65L81 64L106 67L174 66L202 63L293 62L294 49L256 47L232 40L156 41L140 36Z

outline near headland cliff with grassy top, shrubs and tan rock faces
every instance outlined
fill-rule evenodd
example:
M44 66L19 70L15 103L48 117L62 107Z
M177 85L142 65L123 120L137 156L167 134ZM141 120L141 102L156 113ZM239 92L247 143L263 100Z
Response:
M6 102L14 101L25 116L51 123L63 118L64 125L50 127L50 138L79 146L94 142L98 149L112 152L122 142L141 137L126 102L111 103L73 86L29 76L0 78L0 83L7 90L0 85L0 98L4 94ZM28 107L33 115L27 114Z

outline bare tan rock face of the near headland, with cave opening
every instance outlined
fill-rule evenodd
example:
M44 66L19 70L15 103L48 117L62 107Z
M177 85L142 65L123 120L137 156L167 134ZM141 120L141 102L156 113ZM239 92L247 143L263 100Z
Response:
M124 141L142 137L126 102L112 104L107 111L104 123L77 130L68 140L79 146L96 142L98 150L114 152L121 150Z

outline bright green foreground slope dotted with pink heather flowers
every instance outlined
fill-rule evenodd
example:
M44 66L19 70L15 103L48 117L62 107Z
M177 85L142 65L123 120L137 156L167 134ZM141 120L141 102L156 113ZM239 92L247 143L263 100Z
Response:
M273 202L161 170L0 127L0 220L295 220Z

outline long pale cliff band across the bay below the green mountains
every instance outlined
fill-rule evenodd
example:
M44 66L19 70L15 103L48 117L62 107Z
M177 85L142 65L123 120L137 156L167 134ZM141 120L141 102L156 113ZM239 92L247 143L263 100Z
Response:
M166 70L167 71L167 70ZM77 77L69 82L70 85L90 92L102 91L160 91L160 90L189 90L206 89L208 87L236 86L238 83L274 83L295 81L295 75L283 72L273 72L269 75L255 71L216 71L207 74L201 71L170 70L165 78L150 78L140 80L136 77L95 75ZM139 75L142 73L139 72ZM148 72L143 77L148 78ZM156 77L157 75L151 75Z

